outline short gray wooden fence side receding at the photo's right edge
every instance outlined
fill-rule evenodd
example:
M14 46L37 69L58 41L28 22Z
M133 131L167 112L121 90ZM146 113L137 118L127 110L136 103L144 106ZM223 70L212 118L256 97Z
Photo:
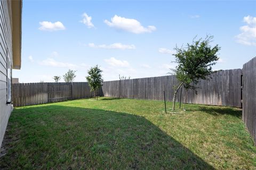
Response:
M256 142L256 57L243 65L243 121Z

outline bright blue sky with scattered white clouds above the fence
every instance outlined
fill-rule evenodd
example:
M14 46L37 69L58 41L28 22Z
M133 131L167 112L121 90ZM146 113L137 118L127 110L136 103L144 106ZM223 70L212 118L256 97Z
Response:
M52 82L99 64L104 80L166 75L173 48L214 36L219 69L256 56L256 1L23 1L20 82ZM63 79L61 79L63 81Z

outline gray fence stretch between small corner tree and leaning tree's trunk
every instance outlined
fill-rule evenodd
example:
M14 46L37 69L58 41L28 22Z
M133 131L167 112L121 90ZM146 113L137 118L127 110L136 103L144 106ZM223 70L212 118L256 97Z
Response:
M132 99L163 100L163 90L166 99L171 101L174 87L178 85L175 76L117 80L103 82L102 90L106 97ZM177 101L180 96L177 96Z

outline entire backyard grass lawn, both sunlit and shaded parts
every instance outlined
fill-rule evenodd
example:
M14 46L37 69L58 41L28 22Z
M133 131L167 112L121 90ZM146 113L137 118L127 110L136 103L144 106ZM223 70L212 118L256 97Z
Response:
M15 108L0 168L256 168L241 109L186 105L165 114L163 106L99 98Z

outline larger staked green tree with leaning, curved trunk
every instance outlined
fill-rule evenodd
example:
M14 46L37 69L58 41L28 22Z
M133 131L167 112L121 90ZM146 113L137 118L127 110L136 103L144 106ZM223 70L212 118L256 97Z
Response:
M216 64L219 60L218 52L219 45L211 47L213 36L206 36L205 39L193 39L192 44L187 44L186 48L176 47L175 63L178 65L173 70L179 85L173 95L172 109L174 111L174 101L179 88L183 87L188 89L196 89L191 83L195 85L199 79L207 80L212 72L212 65Z

